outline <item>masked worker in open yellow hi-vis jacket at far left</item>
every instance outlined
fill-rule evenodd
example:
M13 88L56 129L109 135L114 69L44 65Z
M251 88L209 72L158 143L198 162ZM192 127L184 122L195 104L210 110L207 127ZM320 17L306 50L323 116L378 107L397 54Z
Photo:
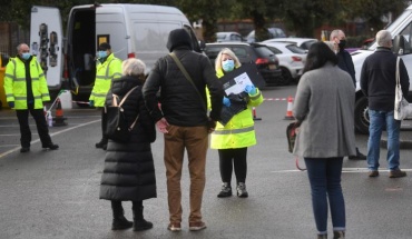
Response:
M29 112L36 121L42 148L56 150L59 146L51 141L43 112L43 101L50 100L45 73L37 58L31 56L29 46L20 43L17 51L17 57L6 66L4 92L19 120L20 152L30 151Z

